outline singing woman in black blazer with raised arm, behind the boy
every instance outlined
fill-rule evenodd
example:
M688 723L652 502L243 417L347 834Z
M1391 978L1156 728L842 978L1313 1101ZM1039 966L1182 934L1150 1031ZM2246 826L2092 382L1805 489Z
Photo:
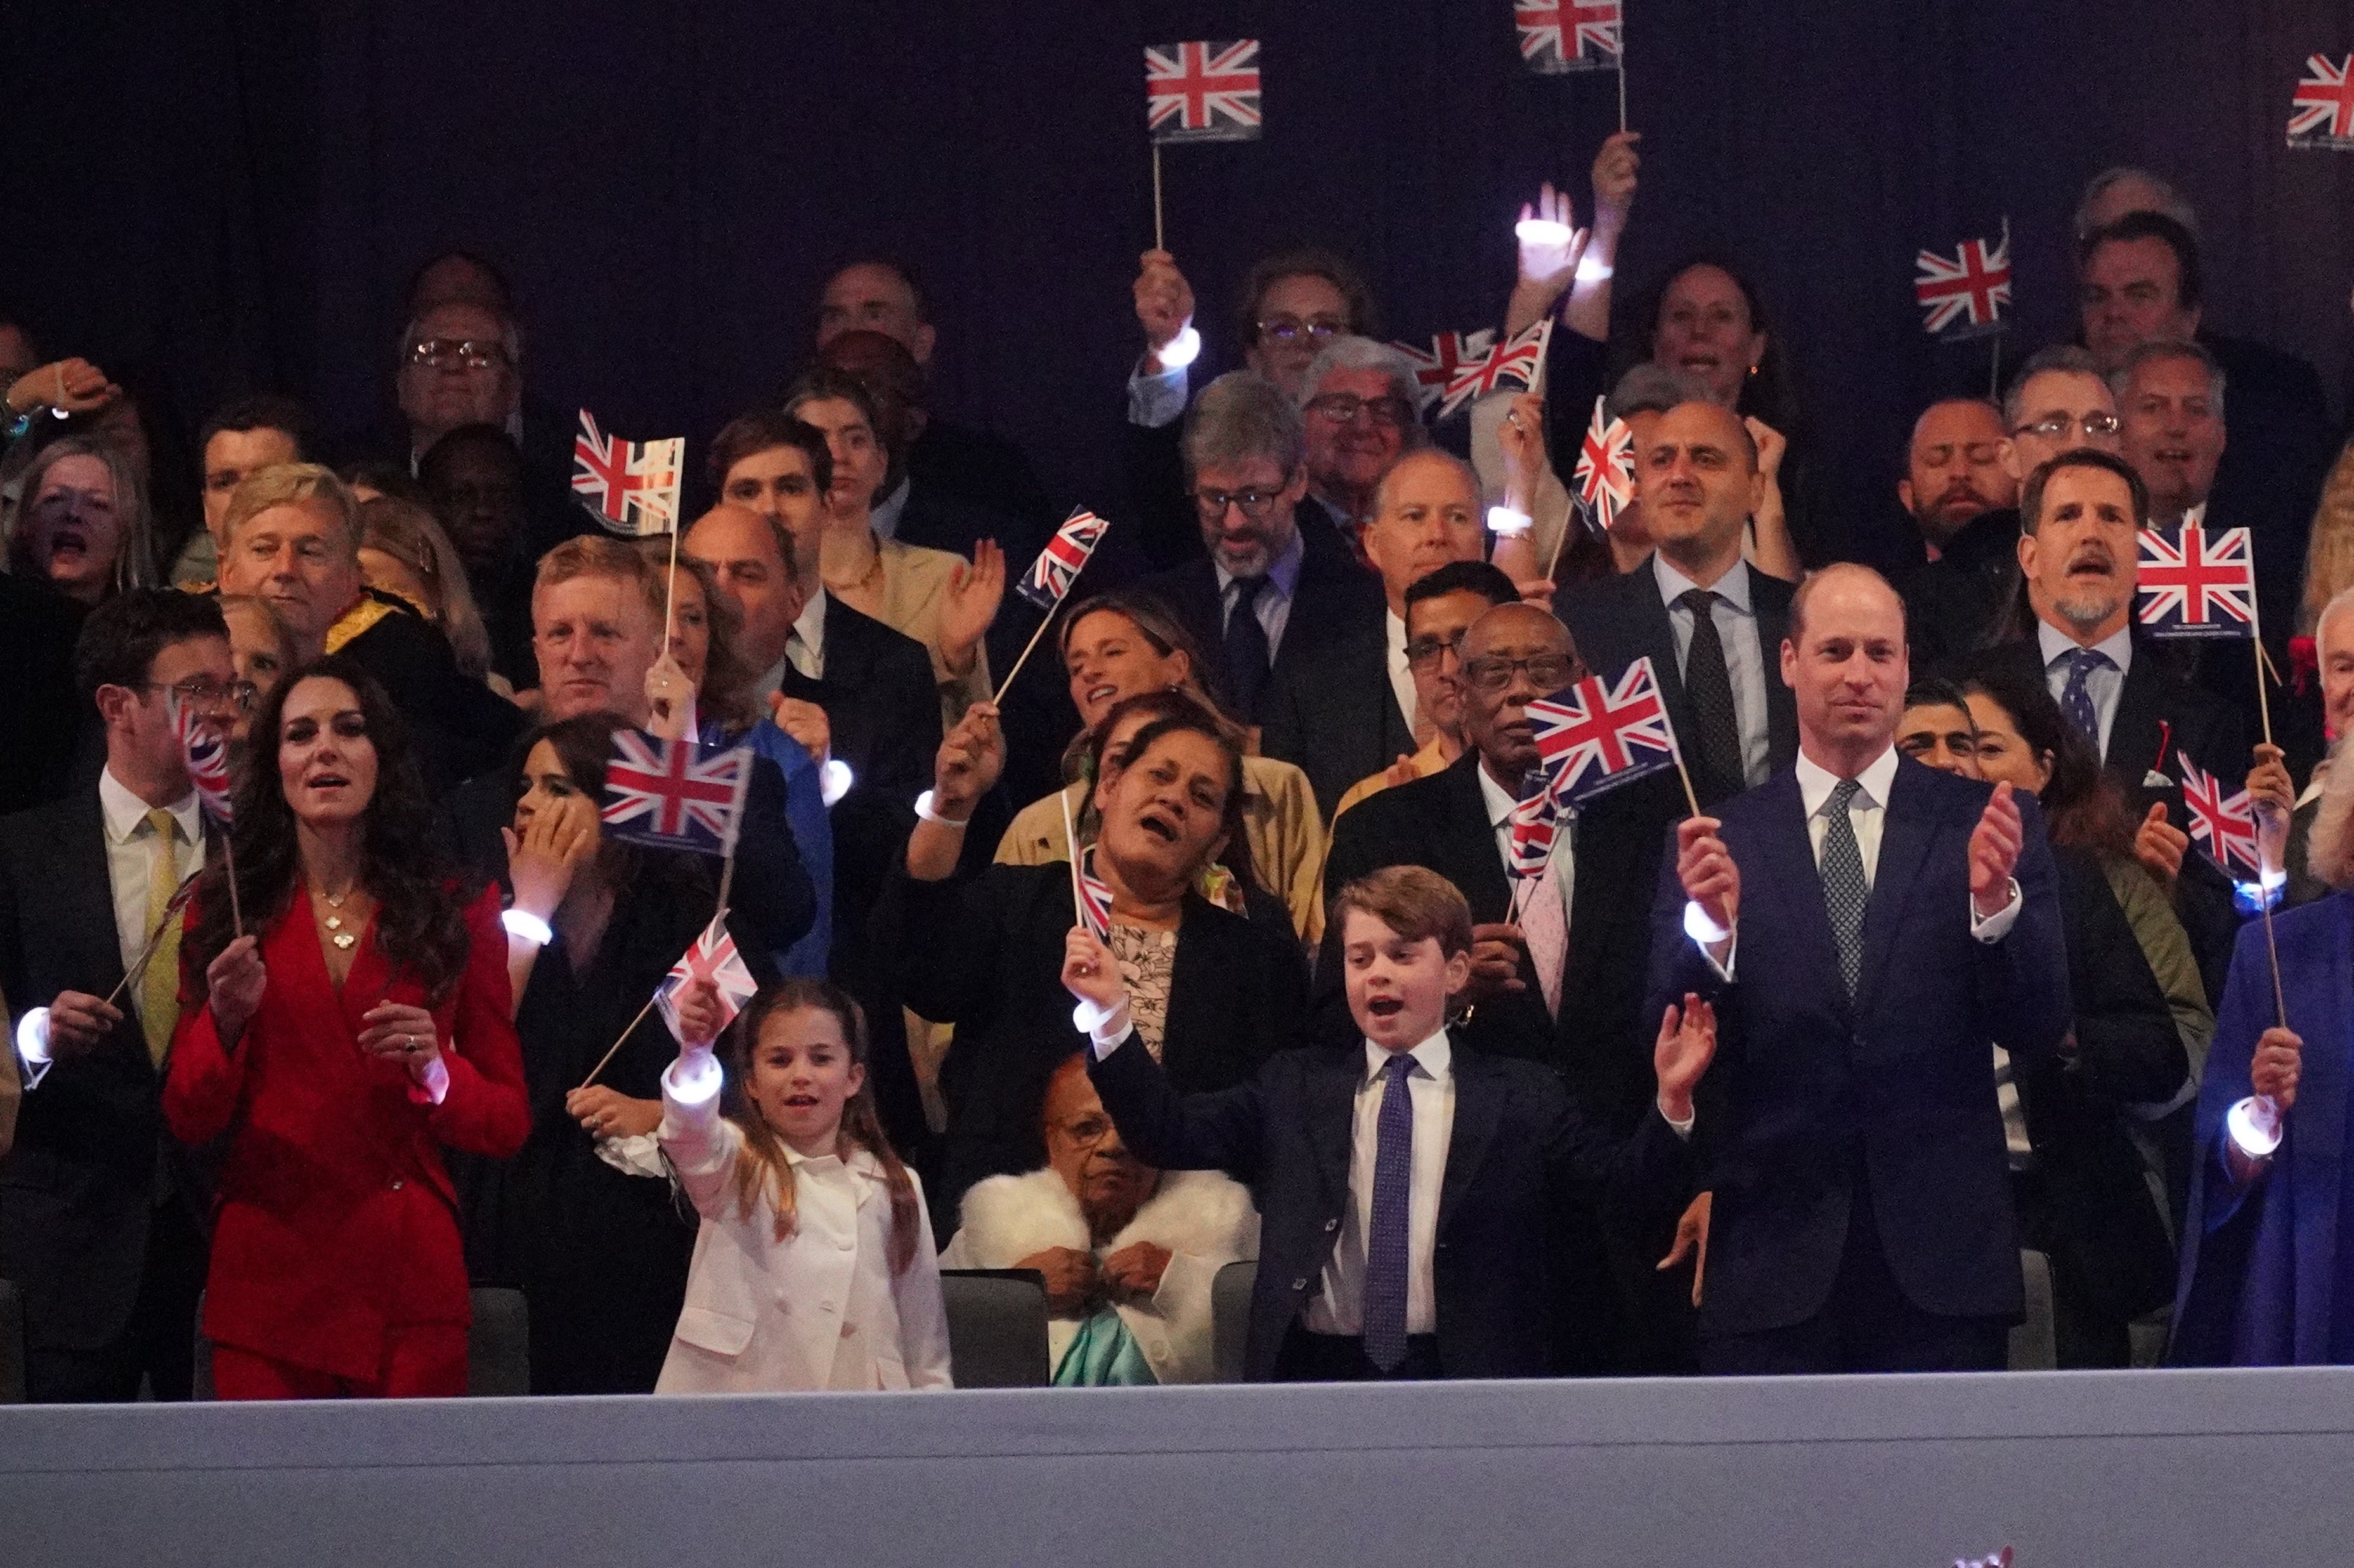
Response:
M1104 732L1118 727L1113 709ZM897 954L906 1005L956 1024L939 1074L944 1203L986 1175L1040 1163L1045 1081L1085 1043L1062 989L1064 939L1078 921L1073 869L956 871L963 822L1003 763L996 709L975 704L942 742L920 822L876 909L878 951ZM1198 892L1215 859L1250 878L1241 756L1208 713L1153 718L1123 756L1104 758L1095 808L1102 826L1083 862L1109 890L1111 949L1146 1050L1182 1092L1243 1083L1299 1043L1306 963L1288 923L1248 921Z

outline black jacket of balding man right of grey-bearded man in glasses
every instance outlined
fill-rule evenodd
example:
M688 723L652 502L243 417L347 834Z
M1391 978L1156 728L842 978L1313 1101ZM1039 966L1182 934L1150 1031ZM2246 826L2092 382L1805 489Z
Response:
M1283 640L1290 645L1290 629ZM1299 659L1278 657L1259 697L1259 751L1309 775L1325 822L1351 784L1412 753L1415 732L1389 685L1387 610L1351 619Z

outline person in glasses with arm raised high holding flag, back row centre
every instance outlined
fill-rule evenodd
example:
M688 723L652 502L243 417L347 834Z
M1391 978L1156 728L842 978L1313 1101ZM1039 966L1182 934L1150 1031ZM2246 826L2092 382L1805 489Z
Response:
M1144 252L1137 273L1137 325L1144 356L1128 379L1130 511L1153 565L1193 558L1193 527L1175 497L1184 490L1177 424L1186 412L1189 367L1201 356L1193 287L1165 250ZM1243 275L1233 341L1243 365L1288 398L1299 398L1309 365L1335 339L1377 330L1372 290L1354 266L1325 250L1262 257Z

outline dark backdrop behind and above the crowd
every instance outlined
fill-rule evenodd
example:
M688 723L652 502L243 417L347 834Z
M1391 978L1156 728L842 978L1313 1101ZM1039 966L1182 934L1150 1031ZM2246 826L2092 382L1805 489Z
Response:
M186 419L280 386L370 431L410 268L468 245L516 278L541 398L699 440L800 365L831 266L887 250L932 294L939 405L1099 499L1151 242L1139 45L1266 45L1266 137L1168 155L1215 360L1285 240L1361 259L1394 334L1502 313L1516 202L1556 177L1584 212L1615 122L1610 75L1518 66L1509 9L5 0L0 313ZM1744 257L1850 511L1984 377L1923 337L1911 252L2010 214L2015 363L2069 330L2064 224L2109 162L2199 202L2215 327L2347 384L2354 153L2283 148L2302 59L2354 47L2333 0L1629 0L1627 35L1622 297Z

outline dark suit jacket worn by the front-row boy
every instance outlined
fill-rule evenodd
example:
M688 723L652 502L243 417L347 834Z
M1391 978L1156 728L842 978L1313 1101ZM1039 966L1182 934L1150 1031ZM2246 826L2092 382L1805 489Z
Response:
M1674 1210L1690 1156L1657 1114L1631 1140L1580 1114L1549 1071L1455 1045L1455 1125L1438 1189L1431 1283L1438 1366L1448 1377L1540 1377L1551 1370L1561 1269L1554 1208L1561 1177L1608 1187L1615 1224ZM1321 1288L1354 1198L1356 1088L1365 1045L1288 1050L1250 1083L1184 1095L1130 1036L1109 1057L1088 1052L1121 1140L1163 1170L1224 1170L1259 1205L1259 1276L1243 1351L1255 1382L1309 1295ZM1368 1175L1370 1180L1370 1175Z

